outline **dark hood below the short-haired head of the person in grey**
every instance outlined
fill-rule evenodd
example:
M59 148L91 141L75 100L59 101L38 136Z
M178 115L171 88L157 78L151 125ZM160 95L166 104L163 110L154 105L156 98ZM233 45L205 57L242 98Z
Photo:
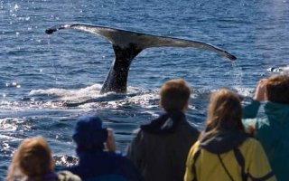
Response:
M179 123L186 117L182 111L167 112L159 118L152 120L147 125L142 125L141 129L154 134L170 134L173 133Z

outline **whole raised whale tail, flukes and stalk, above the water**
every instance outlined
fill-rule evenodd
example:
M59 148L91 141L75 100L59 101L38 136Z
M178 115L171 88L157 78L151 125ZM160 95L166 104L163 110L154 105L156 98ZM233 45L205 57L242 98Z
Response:
M192 47L210 52L216 52L220 56L226 57L231 61L237 59L233 54L221 50L209 43L201 43L198 41L166 36L157 36L147 33L137 33L92 24L60 24L46 29L45 33L51 34L61 29L75 29L95 33L112 43L116 58L108 71L107 79L104 81L100 93L106 93L107 91L126 92L129 66L135 56L146 48Z

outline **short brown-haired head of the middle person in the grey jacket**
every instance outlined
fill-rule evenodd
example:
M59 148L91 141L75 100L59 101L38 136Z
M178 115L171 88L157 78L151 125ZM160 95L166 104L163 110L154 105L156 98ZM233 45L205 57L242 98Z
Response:
M160 90L160 105L167 112L185 110L190 95L191 90L186 81L182 79L166 81Z

